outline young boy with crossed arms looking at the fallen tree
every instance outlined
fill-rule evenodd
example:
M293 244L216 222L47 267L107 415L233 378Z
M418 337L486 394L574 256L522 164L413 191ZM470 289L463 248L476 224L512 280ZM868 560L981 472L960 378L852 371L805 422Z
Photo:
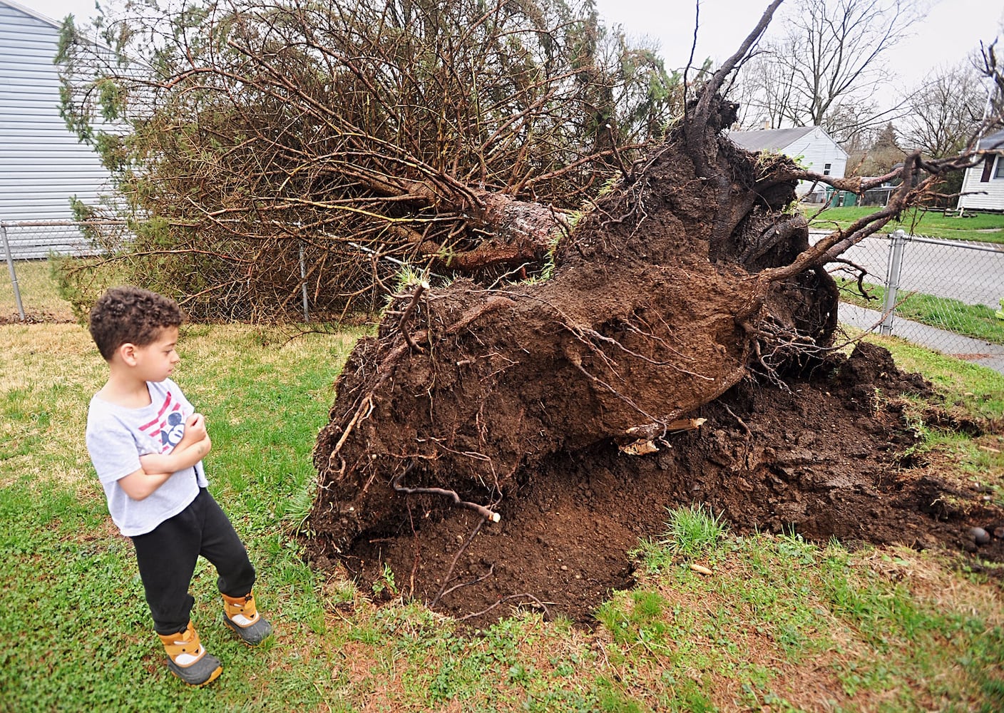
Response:
M90 334L108 381L90 400L86 441L111 519L136 545L168 667L203 686L223 668L189 620L200 554L219 574L224 623L252 646L272 628L255 608L255 570L244 544L206 489L202 459L212 443L205 419L169 379L181 361L181 323L178 303L156 292L114 287L101 295L90 310Z

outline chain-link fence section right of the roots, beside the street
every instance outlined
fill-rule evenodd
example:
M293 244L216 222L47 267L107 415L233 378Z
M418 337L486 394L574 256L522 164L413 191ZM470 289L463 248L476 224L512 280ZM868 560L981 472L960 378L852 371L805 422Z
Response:
M860 317L872 320L867 326L946 353L1004 353L1004 318L998 317L1004 314L1004 245L901 230L865 238L843 258L865 271L862 281L873 297ZM856 271L837 270L834 276L841 274L852 283Z

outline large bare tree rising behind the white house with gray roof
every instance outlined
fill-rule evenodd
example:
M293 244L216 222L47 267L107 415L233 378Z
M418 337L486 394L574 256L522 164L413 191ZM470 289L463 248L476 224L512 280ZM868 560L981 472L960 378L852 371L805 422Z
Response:
M781 36L765 41L759 59L743 67L747 116L773 128L824 127L838 141L890 121L888 113L872 120L861 107L888 83L883 60L921 9L905 0L796 0L784 12Z

